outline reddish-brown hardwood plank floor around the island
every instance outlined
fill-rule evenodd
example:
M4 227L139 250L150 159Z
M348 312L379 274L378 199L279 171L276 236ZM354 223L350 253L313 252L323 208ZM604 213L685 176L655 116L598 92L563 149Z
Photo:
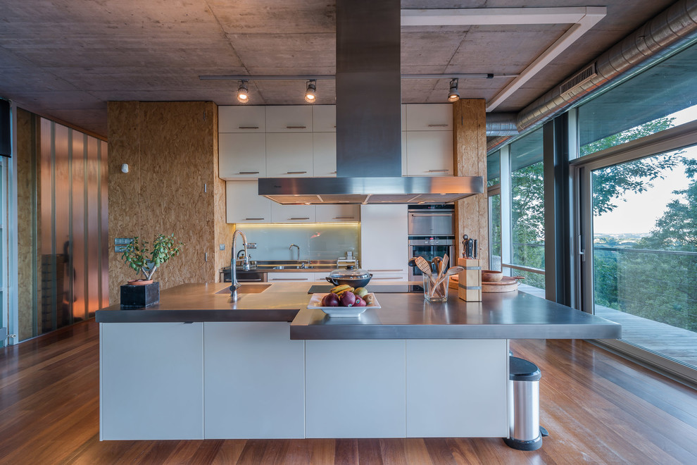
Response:
M542 371L550 435L535 452L462 438L99 442L99 328L88 321L0 349L0 463L697 464L694 390L582 340L511 349Z

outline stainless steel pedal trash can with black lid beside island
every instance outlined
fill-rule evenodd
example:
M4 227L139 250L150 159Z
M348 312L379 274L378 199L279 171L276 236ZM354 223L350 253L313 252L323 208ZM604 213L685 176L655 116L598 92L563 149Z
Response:
M510 417L508 447L517 450L538 450L542 447L540 428L540 369L531 361L508 357L508 405Z

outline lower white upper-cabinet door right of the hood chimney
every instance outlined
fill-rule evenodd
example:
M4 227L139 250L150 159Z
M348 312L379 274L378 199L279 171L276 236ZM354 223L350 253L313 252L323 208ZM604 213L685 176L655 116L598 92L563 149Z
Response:
M452 176L452 131L407 131L407 175Z

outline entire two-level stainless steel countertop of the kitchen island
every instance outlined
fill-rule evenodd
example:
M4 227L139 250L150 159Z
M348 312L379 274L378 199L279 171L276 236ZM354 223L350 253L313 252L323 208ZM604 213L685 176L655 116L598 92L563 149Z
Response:
M96 321L292 321L290 338L298 340L616 339L622 333L617 323L520 291L464 302L451 290L448 302L429 304L423 294L381 294L379 285L369 284L382 308L356 318L329 318L307 309L312 284L273 283L258 294L241 294L237 302L225 292L227 283L185 284L163 290L158 305L137 310L112 305L97 311Z

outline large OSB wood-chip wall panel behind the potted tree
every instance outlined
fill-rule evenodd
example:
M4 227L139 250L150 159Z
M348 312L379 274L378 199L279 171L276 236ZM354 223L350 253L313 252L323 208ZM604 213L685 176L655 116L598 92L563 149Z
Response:
M114 252L115 237L152 242L158 233L174 233L184 242L154 275L161 289L217 279L217 132L213 102L109 102L111 304L119 302L120 285L136 277ZM121 172L123 163L128 173Z

